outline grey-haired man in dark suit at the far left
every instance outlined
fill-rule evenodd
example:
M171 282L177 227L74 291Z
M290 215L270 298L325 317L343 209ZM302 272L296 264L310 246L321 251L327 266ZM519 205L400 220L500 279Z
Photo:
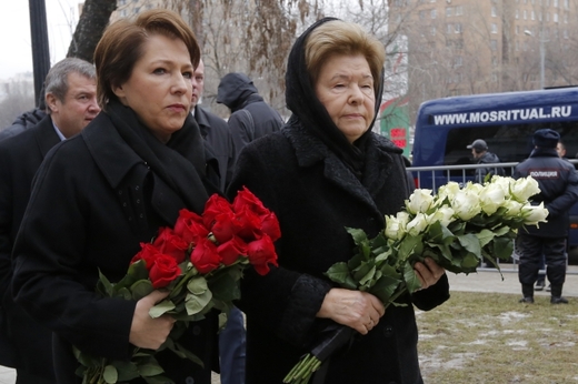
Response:
M48 115L0 142L0 364L17 370L17 384L54 383L51 332L13 301L11 251L30 199L32 180L48 151L79 133L100 112L94 67L76 58L54 64L44 81ZM66 239L62 239L66 241Z

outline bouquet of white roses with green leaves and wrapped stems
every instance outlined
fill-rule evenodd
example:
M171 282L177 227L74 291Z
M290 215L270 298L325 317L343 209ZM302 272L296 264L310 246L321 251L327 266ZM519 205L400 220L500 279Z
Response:
M376 238L347 229L357 253L347 263L333 264L326 274L342 287L373 294L386 307L405 305L396 300L421 287L413 271L417 261L431 257L447 271L468 274L476 272L484 259L496 265L496 257L510 257L518 229L546 222L544 203L531 205L528 201L539 192L531 176L514 180L498 175L484 185L468 183L460 188L450 182L436 195L431 190L418 189L402 211L386 216L385 231ZM328 335L301 358L283 383L308 383L321 363L347 345L353 333L347 326L328 330Z

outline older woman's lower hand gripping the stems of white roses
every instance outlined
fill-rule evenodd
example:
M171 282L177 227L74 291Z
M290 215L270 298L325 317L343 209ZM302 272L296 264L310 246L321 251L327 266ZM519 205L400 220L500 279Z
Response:
M383 313L383 304L372 294L331 289L325 296L317 317L331 319L365 335L377 325Z

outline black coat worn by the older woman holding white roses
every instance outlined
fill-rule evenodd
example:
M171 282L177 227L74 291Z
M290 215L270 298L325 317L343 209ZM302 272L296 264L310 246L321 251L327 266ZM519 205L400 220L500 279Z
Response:
M246 185L279 218L279 267L266 276L248 273L240 309L247 314L247 383L277 384L309 352L316 317L332 284L330 265L352 256L346 226L375 236L383 215L398 212L408 196L400 150L370 134L360 182L311 132L286 125L240 154L229 194ZM332 358L326 383L421 383L418 332L411 302L432 309L449 297L444 276L416 293L405 307L389 306L379 324Z

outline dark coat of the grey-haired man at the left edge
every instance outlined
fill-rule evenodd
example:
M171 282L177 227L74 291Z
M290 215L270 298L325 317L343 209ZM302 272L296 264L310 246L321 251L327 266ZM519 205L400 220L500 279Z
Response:
M11 253L30 199L32 179L48 151L59 142L50 117L0 142L0 317L6 332L2 335L8 334L9 338L1 342L0 364L48 380L54 378L52 332L14 304L10 291ZM13 364L6 361L9 347L14 353Z

